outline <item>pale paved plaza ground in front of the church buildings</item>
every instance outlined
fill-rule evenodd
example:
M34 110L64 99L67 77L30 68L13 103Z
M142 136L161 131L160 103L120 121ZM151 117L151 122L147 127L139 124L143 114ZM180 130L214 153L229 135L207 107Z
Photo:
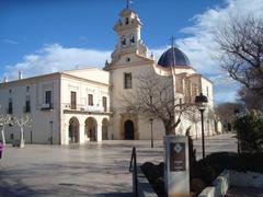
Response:
M201 158L201 140L195 140ZM103 141L85 146L7 147L0 160L0 196L132 196L132 147L138 162L162 160L162 141ZM206 139L206 150L236 151L232 134Z

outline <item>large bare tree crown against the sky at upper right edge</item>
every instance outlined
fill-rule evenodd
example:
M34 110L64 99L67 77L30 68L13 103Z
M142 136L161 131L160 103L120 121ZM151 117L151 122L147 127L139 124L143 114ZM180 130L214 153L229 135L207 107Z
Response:
M263 20L230 16L215 39L221 67L233 80L263 95Z

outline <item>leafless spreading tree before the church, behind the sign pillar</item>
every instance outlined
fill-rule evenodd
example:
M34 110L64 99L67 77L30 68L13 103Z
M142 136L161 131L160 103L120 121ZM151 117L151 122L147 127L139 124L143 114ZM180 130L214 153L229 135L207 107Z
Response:
M191 100L182 94L174 94L172 77L149 73L137 77L136 83L136 90L123 96L125 109L158 118L163 123L165 135L175 135L182 116L187 116L194 107Z

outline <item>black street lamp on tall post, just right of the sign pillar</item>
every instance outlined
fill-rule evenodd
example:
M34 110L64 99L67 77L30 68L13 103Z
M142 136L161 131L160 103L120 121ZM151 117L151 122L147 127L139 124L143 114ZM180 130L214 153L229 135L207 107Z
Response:
M207 97L203 93L195 96L195 104L198 106L198 109L201 112L203 159L205 158L204 111L207 103L208 103Z

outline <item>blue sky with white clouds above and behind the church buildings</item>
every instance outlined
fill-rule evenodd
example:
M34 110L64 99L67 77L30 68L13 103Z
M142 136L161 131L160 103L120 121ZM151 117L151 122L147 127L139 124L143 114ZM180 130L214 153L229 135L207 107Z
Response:
M210 58L209 27L227 12L258 13L262 4L262 0L134 0L132 8L157 60L174 35L193 67L216 81L215 100L222 102L235 100L237 84L222 78ZM0 77L12 79L18 70L30 77L81 65L102 67L116 44L112 27L125 5L125 0L1 0Z

